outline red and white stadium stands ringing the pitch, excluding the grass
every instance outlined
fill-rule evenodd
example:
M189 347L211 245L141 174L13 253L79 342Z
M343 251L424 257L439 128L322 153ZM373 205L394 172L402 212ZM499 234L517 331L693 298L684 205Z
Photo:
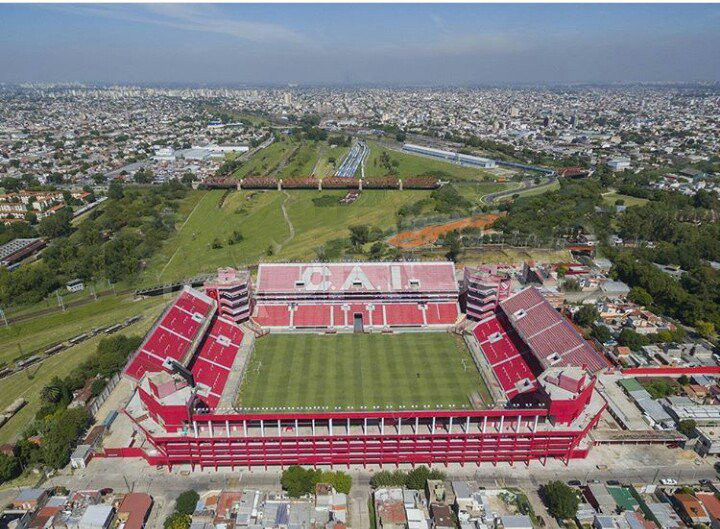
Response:
M124 411L136 433L128 444L106 448L106 456L193 468L567 463L591 448L588 433L606 407L595 374L607 364L534 288L496 292L479 322L463 323L457 312L436 321L428 317L435 305L457 308L451 263L260 265L249 289L253 316L238 325L213 295L214 284L206 293L186 287L128 362L135 391ZM302 315L301 324L306 307L322 317ZM501 398L490 409L234 408L254 340L267 328L463 332Z

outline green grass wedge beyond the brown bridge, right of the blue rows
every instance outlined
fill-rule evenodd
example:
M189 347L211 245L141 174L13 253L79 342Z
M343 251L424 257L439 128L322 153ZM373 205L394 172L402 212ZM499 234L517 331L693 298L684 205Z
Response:
M406 154L403 152L387 149L376 142L369 142L370 154L365 160L365 177L387 176L388 170L380 161L383 152L386 152L391 160L396 160L398 165L397 175L400 178L409 176L420 176L430 173L443 179L452 180L494 180L495 176L490 171L463 167L452 162L433 160L425 156Z

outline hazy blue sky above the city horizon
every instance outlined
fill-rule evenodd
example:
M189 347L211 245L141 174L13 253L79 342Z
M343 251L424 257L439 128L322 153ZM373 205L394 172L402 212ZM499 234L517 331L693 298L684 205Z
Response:
M0 82L720 80L720 4L0 4Z

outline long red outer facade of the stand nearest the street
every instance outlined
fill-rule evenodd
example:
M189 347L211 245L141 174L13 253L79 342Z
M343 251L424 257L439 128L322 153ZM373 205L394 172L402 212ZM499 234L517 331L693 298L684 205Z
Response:
M560 459L567 464L571 459L587 456L591 444L586 440L587 434L597 424L603 410L604 406L580 428L539 427L540 422L549 418L548 410L542 408L456 412L232 413L194 415L193 426L179 435L154 435L140 428L155 449L144 452L143 457L151 464L170 468L180 464L189 464L193 469L196 466L497 464L529 463L532 460L545 462L548 458ZM328 433L301 433L296 420L312 423L313 432L317 427L318 430L328 430ZM288 428L291 429L289 433ZM371 429L377 432L373 433ZM126 454L130 457L138 455L136 451L132 451L132 455L106 451L105 455L123 457Z

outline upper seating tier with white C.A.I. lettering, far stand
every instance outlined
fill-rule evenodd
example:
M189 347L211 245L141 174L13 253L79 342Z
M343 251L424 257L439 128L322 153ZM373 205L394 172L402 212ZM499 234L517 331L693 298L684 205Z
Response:
M455 267L434 263L267 263L258 268L256 291L457 292Z

